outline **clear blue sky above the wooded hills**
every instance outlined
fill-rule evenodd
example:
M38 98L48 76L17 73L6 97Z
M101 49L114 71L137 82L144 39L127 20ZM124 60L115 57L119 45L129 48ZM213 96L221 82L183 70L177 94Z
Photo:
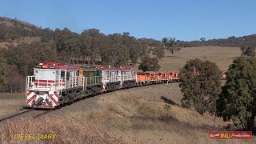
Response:
M0 16L52 30L191 41L256 34L255 7L255 0L0 0Z

